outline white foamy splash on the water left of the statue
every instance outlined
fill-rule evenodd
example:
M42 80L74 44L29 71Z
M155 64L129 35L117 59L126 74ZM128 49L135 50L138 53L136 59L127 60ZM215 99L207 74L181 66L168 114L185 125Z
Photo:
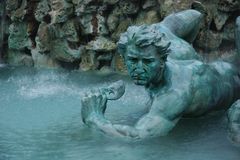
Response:
M47 98L50 96L80 97L86 89L81 89L68 82L68 74L37 73L36 75L10 77L9 83L17 86L17 93L25 99Z

